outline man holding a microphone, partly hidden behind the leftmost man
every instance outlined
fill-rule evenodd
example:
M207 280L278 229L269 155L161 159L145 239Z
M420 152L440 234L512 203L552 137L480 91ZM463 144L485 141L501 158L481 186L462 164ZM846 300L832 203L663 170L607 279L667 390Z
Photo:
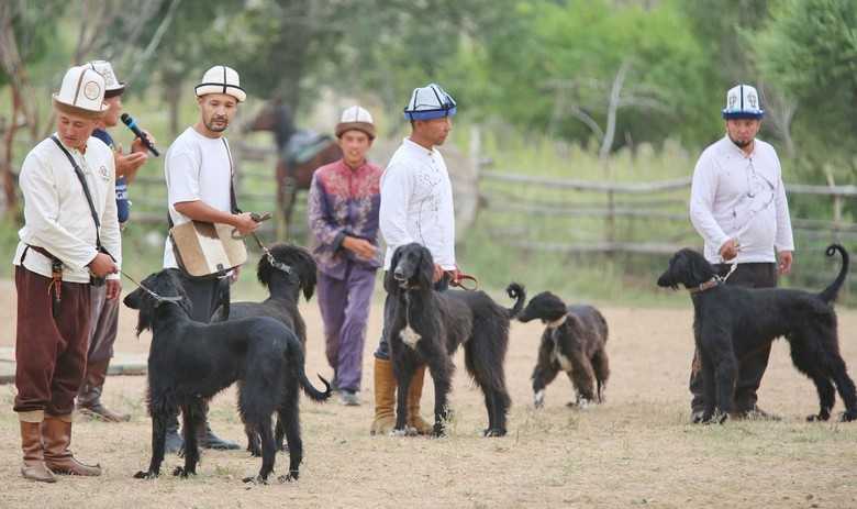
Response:
M92 136L104 142L111 150L116 162L116 214L120 226L129 220L130 203L127 200L127 182L134 178L137 169L146 162L146 147L140 139L131 144L131 153L123 154L116 147L108 128L119 124L122 113L122 92L125 84L116 78L113 67L107 60L93 60L87 64L104 78L104 103L108 106L104 114L96 121ZM148 133L146 133L148 135ZM153 143L155 140L151 136ZM116 413L101 402L101 392L107 379L110 358L113 356L113 343L119 331L119 299L107 299L103 286L93 286L92 316L90 318L89 348L87 353L87 369L80 391L77 396L77 410L104 422L124 422L131 419L127 413Z

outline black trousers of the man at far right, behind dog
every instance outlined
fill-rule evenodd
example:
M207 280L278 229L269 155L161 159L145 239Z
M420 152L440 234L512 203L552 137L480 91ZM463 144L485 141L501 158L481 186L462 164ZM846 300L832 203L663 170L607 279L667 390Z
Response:
M721 276L728 274L731 265L719 264L714 268ZM777 264L749 263L738 264L732 273L726 285L743 286L747 288L773 288L777 286ZM738 378L735 384L735 411L745 412L753 410L758 400L757 391L768 368L770 357L768 343L759 350L750 352L738 359ZM693 363L690 368L690 392L693 398L690 408L693 412L702 411L705 407L702 390L702 369L699 351L693 353Z

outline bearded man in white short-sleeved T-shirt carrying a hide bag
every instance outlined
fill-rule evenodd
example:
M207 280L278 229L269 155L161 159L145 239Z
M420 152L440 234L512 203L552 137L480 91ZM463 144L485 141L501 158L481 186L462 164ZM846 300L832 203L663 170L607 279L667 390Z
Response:
M223 137L246 93L241 88L238 74L223 65L207 70L196 92L200 118L172 142L164 161L170 222L182 224L193 220L229 224L246 235L254 232L258 223L248 212L236 213L232 154ZM179 268L169 236L164 250L164 268ZM180 269L179 274L193 305L191 318L208 323L220 303L221 280L193 279ZM181 447L182 440L177 431L178 422L174 417L167 424L167 451L177 452ZM208 417L194 431L203 447L238 449L238 444L221 440L211 432Z

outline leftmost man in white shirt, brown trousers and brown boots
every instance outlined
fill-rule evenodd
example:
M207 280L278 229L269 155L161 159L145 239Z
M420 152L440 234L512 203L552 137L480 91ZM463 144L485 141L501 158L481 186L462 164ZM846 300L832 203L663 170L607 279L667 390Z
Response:
M91 137L107 108L104 78L86 66L68 69L54 95L57 131L21 166L14 411L21 473L45 483L56 482L55 474L101 475L68 446L86 368L90 284L107 285L108 299L121 290L113 152Z

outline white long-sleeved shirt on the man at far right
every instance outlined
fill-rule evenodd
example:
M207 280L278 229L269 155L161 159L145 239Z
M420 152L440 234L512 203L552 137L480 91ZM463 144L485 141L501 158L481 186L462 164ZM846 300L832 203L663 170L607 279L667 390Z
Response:
M693 170L690 220L711 263L724 262L728 239L738 241L737 263L776 262L775 247L794 251L777 151L756 140L747 156L728 136L705 148Z

